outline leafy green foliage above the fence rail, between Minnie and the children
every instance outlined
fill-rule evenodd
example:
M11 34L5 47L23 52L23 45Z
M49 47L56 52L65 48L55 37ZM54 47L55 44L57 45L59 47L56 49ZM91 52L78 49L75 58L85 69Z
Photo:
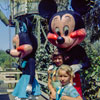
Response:
M50 50L50 47L46 48L41 44L40 48L38 48L36 52L36 70L47 71L51 63L51 53L53 51L53 48Z

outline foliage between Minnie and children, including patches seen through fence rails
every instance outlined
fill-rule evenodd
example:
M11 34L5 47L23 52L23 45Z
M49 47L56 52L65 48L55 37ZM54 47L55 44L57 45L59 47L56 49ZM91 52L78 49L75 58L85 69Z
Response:
M36 70L37 71L47 73L48 67L52 63L51 61L52 52L53 52L53 46L50 43L48 43L46 47L43 44L41 44L40 48L38 48L36 52ZM38 75L38 79L47 83L48 76ZM41 85L41 90L47 94L49 93L47 86Z

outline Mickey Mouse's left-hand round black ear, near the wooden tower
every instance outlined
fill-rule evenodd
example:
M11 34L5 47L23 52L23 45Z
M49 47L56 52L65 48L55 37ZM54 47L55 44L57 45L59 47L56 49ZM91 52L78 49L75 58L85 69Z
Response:
M57 12L57 4L54 0L41 0L38 10L40 16L50 19L51 16Z

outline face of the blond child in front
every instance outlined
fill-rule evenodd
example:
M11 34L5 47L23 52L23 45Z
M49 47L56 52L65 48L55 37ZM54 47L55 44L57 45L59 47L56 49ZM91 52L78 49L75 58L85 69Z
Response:
M58 77L59 77L59 80L60 80L62 86L65 86L68 83L70 83L71 76L68 75L65 70L60 70Z

